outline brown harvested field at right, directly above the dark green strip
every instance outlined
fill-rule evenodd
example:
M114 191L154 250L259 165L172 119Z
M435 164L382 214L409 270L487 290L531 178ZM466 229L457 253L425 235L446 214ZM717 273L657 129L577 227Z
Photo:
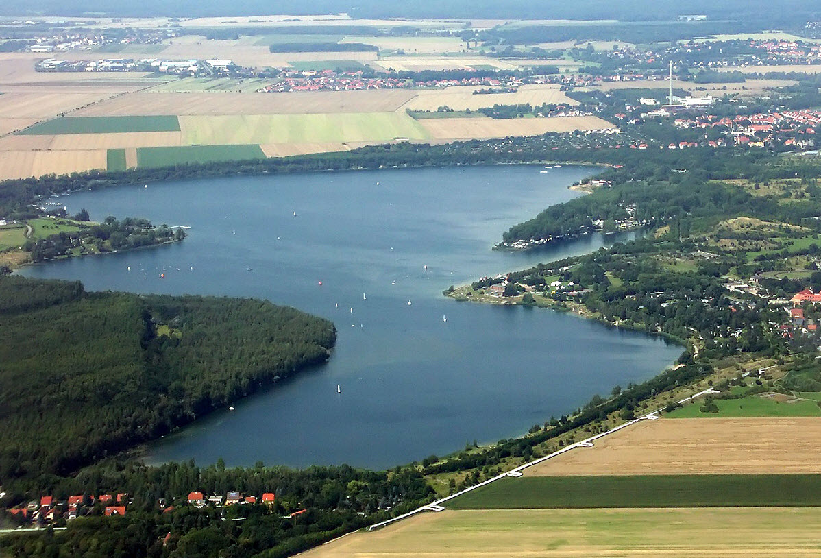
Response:
M528 477L677 473L821 473L821 419L642 421L525 469Z

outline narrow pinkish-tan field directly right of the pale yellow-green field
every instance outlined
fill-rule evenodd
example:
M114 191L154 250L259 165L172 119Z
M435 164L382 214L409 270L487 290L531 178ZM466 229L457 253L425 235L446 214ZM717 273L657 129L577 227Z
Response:
M420 124L438 140L540 136L548 131L601 130L613 125L594 116L556 118L425 118Z

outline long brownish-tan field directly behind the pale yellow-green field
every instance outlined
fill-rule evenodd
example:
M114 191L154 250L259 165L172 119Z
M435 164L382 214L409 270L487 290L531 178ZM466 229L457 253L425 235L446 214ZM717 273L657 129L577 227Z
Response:
M305 91L299 93L131 93L77 111L82 116L148 114L227 115L382 113L400 108L409 90ZM435 107L433 108L436 109Z

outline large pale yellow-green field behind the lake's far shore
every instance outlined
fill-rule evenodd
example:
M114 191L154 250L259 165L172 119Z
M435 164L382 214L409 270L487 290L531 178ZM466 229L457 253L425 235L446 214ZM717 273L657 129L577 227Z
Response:
M343 143L424 140L428 131L406 113L266 114L181 116L190 145Z

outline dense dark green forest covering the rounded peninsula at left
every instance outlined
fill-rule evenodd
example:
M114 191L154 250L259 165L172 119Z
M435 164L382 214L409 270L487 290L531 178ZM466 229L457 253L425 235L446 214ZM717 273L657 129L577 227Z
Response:
M252 299L0 278L0 482L34 487L324 362L333 325Z

